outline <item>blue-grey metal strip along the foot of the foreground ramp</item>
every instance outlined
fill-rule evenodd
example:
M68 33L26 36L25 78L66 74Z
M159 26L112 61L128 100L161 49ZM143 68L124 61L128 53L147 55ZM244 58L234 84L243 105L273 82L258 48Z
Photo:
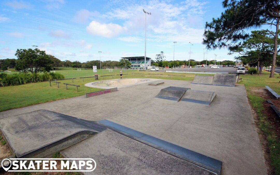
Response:
M157 148L158 150L164 151L165 153L171 154L175 157L181 158L187 162L195 164L199 167L207 169L215 174L221 173L222 162L214 158L202 155L192 150L188 150L181 146L169 143L167 141L158 139L156 137L144 134L142 132L130 129L123 125L111 122L109 120L99 120L97 121L104 124L105 127L119 132L125 136L135 139L139 142L145 143L151 147Z

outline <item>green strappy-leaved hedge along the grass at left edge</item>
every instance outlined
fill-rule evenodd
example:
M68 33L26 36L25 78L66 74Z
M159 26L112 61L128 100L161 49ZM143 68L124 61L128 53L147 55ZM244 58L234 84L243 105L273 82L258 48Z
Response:
M37 83L53 79L63 79L64 75L60 73L0 73L0 86L15 86L26 83Z

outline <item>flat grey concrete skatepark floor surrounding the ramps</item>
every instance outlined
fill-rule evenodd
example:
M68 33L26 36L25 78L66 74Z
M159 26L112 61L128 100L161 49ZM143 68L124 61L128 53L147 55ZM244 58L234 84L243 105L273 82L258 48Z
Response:
M147 82L91 98L80 96L3 111L0 118L48 109L85 120L107 119L221 160L221 174L267 174L244 85L162 81L160 86L149 86ZM211 91L216 97L209 106L154 98L169 86Z

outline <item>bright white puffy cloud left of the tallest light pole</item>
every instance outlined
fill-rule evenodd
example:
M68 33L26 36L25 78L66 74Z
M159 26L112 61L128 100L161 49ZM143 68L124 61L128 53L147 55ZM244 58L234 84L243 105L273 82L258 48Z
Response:
M97 21L92 21L86 29L90 34L99 35L106 38L112 38L126 30L125 27L122 27L118 24L101 24Z

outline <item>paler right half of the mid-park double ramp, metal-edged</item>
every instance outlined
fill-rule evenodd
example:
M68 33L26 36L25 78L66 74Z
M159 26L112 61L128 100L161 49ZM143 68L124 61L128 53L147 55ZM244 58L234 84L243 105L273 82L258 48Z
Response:
M215 95L216 95L215 92L189 89L185 92L181 101L209 105L212 102L212 100L214 99Z

